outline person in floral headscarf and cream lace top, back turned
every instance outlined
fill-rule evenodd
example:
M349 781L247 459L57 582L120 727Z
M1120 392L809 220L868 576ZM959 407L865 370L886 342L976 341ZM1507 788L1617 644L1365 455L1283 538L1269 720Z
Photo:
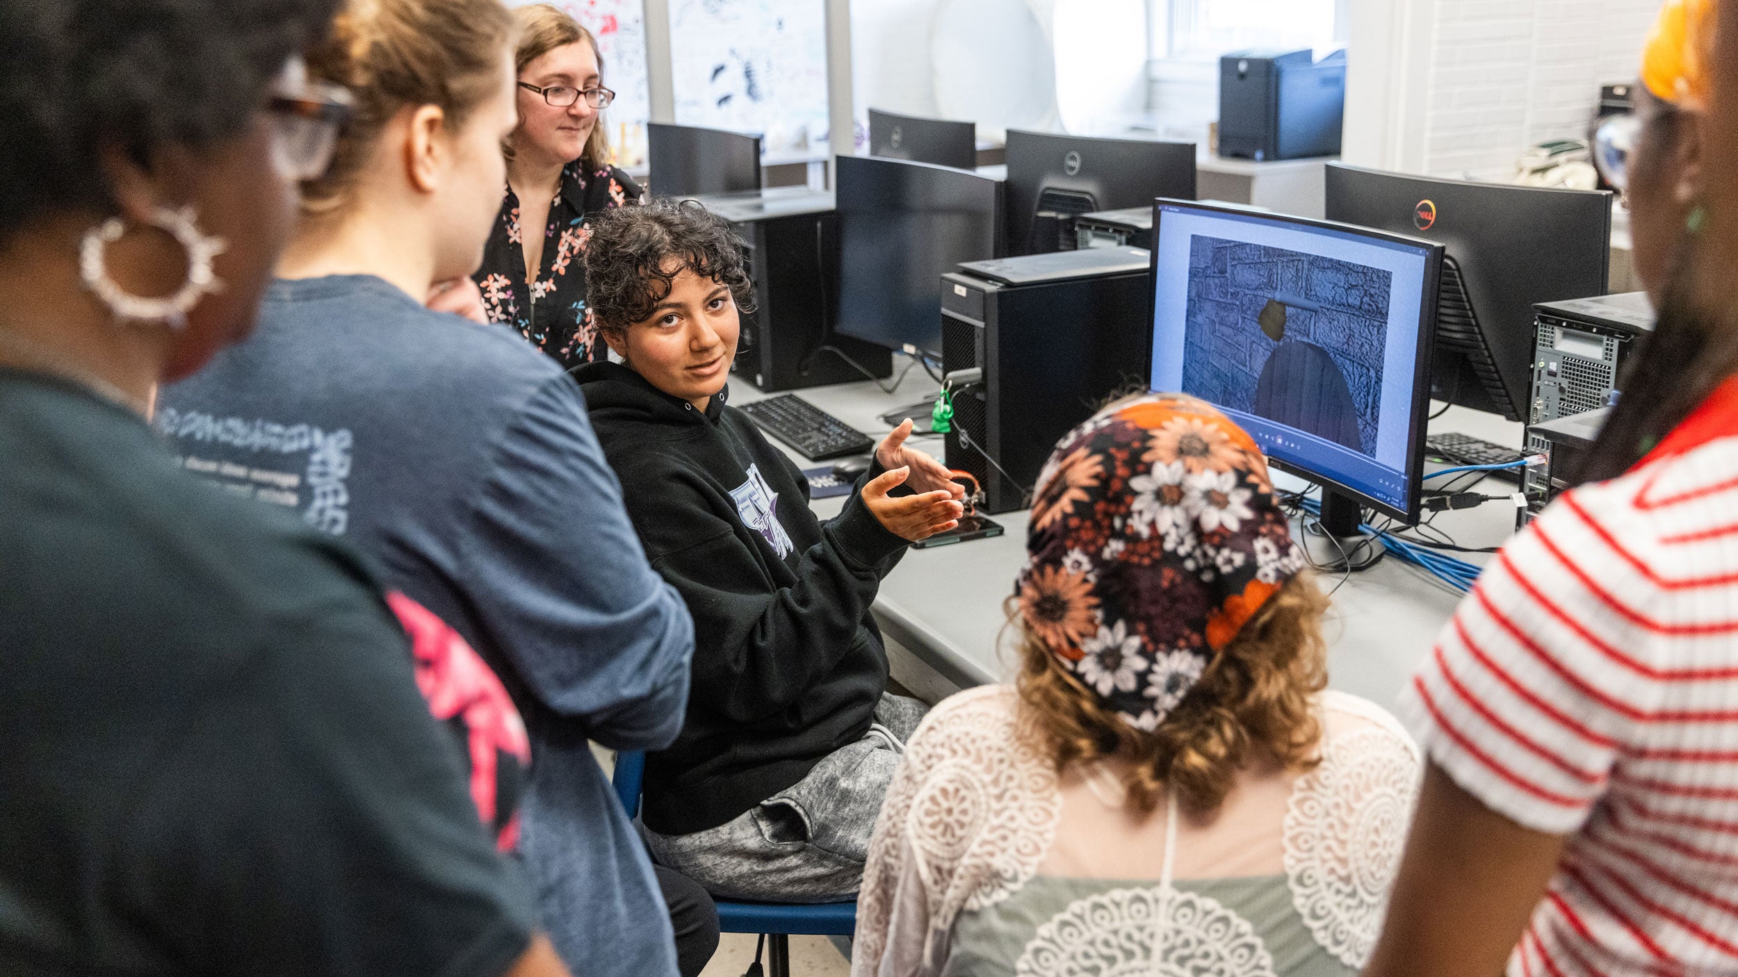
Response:
M907 744L852 974L1357 974L1418 753L1324 690L1326 607L1224 414L1142 395L1071 431L1010 598L1018 681Z

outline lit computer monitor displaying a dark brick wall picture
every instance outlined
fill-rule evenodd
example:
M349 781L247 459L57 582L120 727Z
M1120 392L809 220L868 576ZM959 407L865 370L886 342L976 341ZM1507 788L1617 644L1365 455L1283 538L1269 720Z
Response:
M1359 506L1416 522L1443 245L1184 200L1154 205L1152 243L1152 389L1321 483L1333 535Z

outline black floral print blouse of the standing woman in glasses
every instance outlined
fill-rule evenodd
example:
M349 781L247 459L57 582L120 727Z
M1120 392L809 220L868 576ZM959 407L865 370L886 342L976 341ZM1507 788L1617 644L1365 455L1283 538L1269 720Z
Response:
M605 346L586 308L584 254L591 238L586 224L591 214L640 203L641 196L640 184L615 167L568 163L561 170L561 189L549 202L542 268L527 283L520 198L509 186L483 249L483 266L471 276L483 292L488 320L518 329L563 367L603 360Z

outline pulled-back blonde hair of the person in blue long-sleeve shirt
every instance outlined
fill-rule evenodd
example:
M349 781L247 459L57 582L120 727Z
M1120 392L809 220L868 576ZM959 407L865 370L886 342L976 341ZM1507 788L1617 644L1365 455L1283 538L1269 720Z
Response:
M355 113L332 167L302 184L302 212L344 207L386 123L434 104L457 130L501 85L513 17L499 0L349 0L308 54L308 73L349 89Z

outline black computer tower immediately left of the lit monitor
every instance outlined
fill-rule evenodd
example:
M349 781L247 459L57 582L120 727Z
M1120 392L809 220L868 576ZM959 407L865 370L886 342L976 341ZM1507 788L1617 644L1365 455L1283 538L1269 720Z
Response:
M952 391L947 468L972 473L982 509L1031 504L1062 435L1123 388L1145 389L1149 256L1133 247L968 261L942 275L942 370Z

